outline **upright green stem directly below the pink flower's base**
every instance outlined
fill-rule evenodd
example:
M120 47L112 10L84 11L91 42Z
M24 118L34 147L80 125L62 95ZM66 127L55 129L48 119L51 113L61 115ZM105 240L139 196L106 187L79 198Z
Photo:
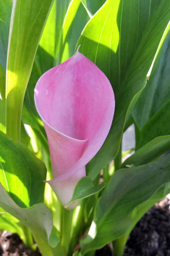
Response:
M61 246L65 250L66 255L69 255L69 245L71 241L71 226L74 210L62 210L62 229L61 229Z

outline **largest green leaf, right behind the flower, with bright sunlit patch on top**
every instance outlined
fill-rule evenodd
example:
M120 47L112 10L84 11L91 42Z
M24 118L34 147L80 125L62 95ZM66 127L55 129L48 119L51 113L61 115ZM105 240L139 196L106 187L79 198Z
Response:
M146 84L146 76L170 16L168 0L107 0L91 18L77 46L111 81L116 109L102 148L87 165L94 179L118 154L122 132Z

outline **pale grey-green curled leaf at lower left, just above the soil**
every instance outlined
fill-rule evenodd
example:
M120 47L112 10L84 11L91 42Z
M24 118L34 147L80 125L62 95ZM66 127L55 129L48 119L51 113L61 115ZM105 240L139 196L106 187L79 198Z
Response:
M50 243L50 235L53 227L52 214L45 204L35 204L28 209L20 208L0 184L0 207L3 207L6 212L9 212L43 240L49 241Z

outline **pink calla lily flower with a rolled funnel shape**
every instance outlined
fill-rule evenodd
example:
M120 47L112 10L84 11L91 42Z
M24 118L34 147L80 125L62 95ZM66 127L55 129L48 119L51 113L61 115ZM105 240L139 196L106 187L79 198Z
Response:
M50 149L53 179L48 183L65 206L111 128L113 89L105 74L77 50L40 77L34 99Z

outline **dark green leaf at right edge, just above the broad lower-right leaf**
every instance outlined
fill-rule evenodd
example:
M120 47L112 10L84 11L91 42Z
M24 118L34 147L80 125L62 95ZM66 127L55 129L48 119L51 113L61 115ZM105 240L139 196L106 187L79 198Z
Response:
M170 135L170 100L144 125L136 148L163 135Z

